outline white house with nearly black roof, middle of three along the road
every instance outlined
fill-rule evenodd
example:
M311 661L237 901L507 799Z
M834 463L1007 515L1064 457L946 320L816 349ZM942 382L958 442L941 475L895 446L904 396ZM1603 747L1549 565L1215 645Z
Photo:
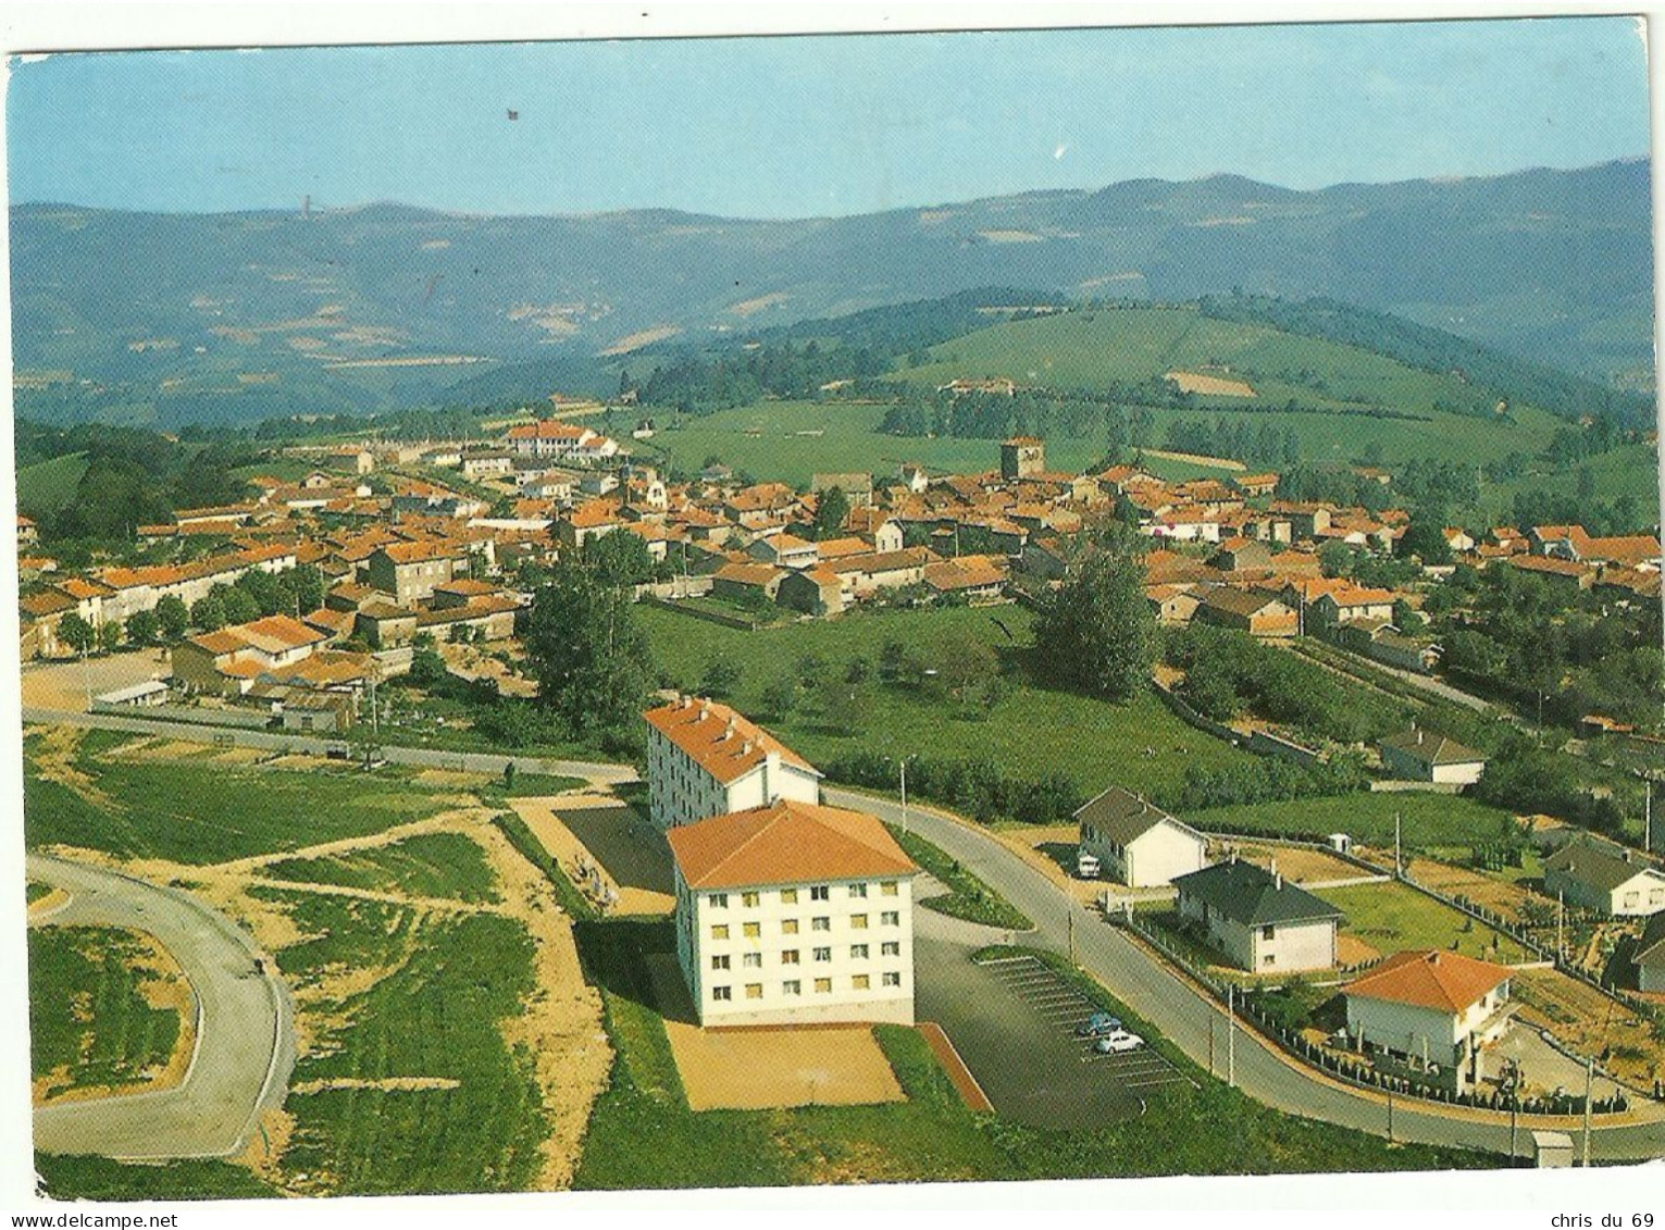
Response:
M1179 915L1234 965L1295 974L1335 965L1342 912L1277 870L1229 862L1179 875Z

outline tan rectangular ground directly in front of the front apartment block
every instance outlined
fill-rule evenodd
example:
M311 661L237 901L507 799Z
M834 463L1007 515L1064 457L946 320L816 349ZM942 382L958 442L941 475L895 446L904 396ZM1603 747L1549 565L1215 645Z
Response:
M648 962L689 1110L774 1110L902 1102L889 1060L866 1025L706 1030L691 1022L676 957Z

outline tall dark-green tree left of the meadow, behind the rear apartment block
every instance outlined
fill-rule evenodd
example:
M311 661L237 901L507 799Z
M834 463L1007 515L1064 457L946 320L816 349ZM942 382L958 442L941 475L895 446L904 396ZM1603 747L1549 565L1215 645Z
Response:
M526 654L539 706L574 734L623 734L639 717L653 677L648 639L636 627L629 596L583 566L561 564L538 591Z

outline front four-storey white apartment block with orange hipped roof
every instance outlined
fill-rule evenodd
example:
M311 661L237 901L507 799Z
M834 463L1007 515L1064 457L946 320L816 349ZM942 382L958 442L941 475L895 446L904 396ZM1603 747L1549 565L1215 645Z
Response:
M914 1022L919 867L876 817L781 799L666 836L703 1027Z

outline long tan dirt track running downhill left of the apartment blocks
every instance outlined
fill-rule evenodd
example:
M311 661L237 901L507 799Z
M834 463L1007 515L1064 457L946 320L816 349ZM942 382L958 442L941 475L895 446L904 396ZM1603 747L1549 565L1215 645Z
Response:
M511 1050L533 1055L549 1135L533 1188L571 1187L589 1127L589 1112L608 1087L613 1047L601 1019L601 992L584 982L573 942L573 920L554 900L554 885L508 837L486 826L470 834L480 842L503 885L503 909L521 920L534 944L538 989L521 1015L503 1022Z

